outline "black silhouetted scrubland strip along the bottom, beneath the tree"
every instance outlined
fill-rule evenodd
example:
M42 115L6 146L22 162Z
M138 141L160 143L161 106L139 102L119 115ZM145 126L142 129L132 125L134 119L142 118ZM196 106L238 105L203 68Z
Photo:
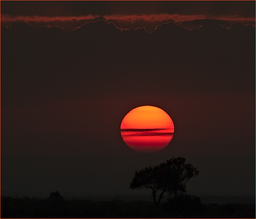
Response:
M198 197L150 201L1 197L1 218L255 218L255 204L202 204Z

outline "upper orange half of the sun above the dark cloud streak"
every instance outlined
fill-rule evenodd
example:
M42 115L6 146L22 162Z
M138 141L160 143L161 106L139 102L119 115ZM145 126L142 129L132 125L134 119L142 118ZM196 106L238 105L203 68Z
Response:
M174 128L170 116L158 107L142 106L131 110L121 123L122 128Z

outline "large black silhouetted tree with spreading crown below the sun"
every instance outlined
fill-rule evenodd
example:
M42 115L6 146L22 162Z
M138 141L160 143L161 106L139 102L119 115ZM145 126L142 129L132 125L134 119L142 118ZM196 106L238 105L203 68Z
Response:
M165 192L174 193L177 197L177 191L185 192L185 183L199 174L196 167L191 164L185 164L185 158L172 158L159 164L158 166L148 166L138 171L135 170L132 182L129 188L131 189L151 189L154 203L157 207ZM161 192L158 201L155 196L157 192Z

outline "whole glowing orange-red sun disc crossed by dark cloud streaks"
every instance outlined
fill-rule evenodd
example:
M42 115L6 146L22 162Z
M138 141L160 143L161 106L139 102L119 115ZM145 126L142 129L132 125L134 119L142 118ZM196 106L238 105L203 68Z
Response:
M172 140L173 132L172 119L158 107L137 107L121 123L124 142L131 149L142 153L162 150Z

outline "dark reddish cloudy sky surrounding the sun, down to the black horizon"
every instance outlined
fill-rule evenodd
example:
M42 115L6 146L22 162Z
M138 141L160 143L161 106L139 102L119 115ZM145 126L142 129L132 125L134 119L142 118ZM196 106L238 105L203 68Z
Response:
M133 108L174 123L121 138ZM255 1L1 1L1 196L150 195L135 169L185 157L197 195L255 196Z

